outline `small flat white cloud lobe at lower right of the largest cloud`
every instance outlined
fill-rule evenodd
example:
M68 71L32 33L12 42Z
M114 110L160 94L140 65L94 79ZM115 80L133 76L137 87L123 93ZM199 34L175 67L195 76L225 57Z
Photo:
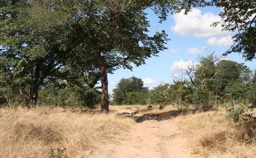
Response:
M215 46L229 46L232 45L233 40L230 35L224 36L224 37L211 37L208 39L208 43L210 45L215 45Z

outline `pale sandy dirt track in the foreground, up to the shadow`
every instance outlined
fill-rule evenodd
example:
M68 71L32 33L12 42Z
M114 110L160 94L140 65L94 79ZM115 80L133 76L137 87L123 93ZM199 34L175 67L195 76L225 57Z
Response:
M172 119L136 123L130 132L117 136L116 140L102 145L89 157L192 157Z

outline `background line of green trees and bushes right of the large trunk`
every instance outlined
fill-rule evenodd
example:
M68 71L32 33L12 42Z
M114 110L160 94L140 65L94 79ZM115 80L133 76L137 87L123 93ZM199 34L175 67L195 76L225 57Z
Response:
M224 106L234 121L249 118L256 107L256 71L246 65L222 60L214 54L200 57L199 64L176 74L172 84L149 90L140 78L123 78L113 90L114 104L173 104L203 111Z

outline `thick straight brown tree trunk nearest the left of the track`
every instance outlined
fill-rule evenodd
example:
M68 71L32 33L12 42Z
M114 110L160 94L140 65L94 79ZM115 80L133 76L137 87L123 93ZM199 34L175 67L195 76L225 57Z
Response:
M102 86L102 112L109 112L109 92L108 92L108 82L107 82L107 71L106 71L106 61L102 56L99 59L99 64L101 67L101 86Z

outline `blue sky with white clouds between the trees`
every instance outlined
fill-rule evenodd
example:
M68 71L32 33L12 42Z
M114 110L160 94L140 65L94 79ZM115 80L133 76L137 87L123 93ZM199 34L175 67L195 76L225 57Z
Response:
M194 8L191 13L169 15L162 24L152 11L148 11L147 18L150 21L150 35L156 31L164 30L171 41L165 46L167 50L159 53L159 56L146 60L146 64L134 67L133 71L120 69L109 74L109 92L121 80L131 76L143 78L144 85L152 88L161 82L172 82L173 74L177 69L184 69L189 63L196 63L199 55L205 56L212 51L221 55L232 44L233 33L221 32L221 27L211 27L212 22L218 21L220 8L206 7ZM242 55L229 54L228 60L244 63L251 69L255 69L256 60L245 62Z

